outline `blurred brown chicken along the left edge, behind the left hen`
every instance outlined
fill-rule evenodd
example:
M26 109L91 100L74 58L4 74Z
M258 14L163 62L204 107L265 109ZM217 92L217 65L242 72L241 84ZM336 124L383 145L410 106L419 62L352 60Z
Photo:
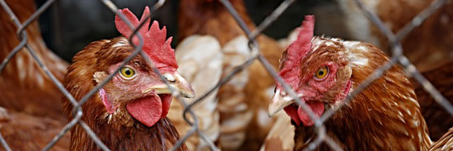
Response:
M20 22L34 13L32 0L7 0ZM19 44L17 27L4 8L0 8L0 59ZM37 22L27 28L28 45L55 75L62 80L67 63L48 50L41 38ZM0 72L0 132L12 150L40 150L65 125L60 99L62 93L22 48ZM53 150L67 150L69 134L54 146Z

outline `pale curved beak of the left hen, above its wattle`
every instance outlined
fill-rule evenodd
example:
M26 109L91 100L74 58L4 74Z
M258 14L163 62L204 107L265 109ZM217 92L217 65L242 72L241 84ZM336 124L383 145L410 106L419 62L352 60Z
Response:
M170 87L179 92L181 96L185 98L195 98L195 92L193 91L192 86L178 72L171 75L165 75L164 77L169 81ZM157 94L171 94L169 87L167 87L165 83L153 85L152 87L143 90L142 93L151 92L152 90L155 90Z

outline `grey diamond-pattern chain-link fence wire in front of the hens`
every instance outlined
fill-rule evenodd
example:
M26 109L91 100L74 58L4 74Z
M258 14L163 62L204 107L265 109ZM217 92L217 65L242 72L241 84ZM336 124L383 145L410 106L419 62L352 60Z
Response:
M110 0L100 0L100 1L107 8L110 8L110 10L112 10L112 13L117 13L118 7L112 1L110 1ZM314 121L314 123L315 123L314 126L317 129L317 131L316 131L317 132L317 138L314 141L312 141L308 145L308 147L305 148L305 150L315 150L317 148L317 146L319 146L321 143L326 143L327 145L329 145L329 147L332 150L341 150L339 145L337 145L332 140L332 138L327 136L327 134L325 133L325 127L324 127L323 123L326 120L328 120L329 117L331 117L331 115L333 115L342 106L344 106L346 103L351 101L351 99L353 99L354 96L359 94L362 89L365 89L374 80L376 80L377 78L380 78L381 75L383 75L383 73L385 73L388 69L390 69L392 66L394 66L397 63L399 63L403 68L405 68L405 71L407 72L408 75L412 75L416 79L417 82L421 83L422 87L424 87L426 92L431 94L433 99L435 99L435 101L437 103L439 103L443 108L445 108L445 110L447 110L447 112L450 115L453 116L453 106L452 106L452 104L450 104L449 101L447 101L447 99L445 99L445 97L442 96L442 94L440 94L440 92L438 92L438 90L435 89L435 87L433 87L431 82L426 80L426 78L424 78L424 75L421 75L421 73L415 68L415 66L411 62L409 62L409 59L407 59L407 57L405 57L405 55L402 54L403 50L402 50L402 46L401 46L401 43L400 43L402 38L407 36L407 34L409 34L414 28L416 28L420 24L422 24L424 22L424 20L426 20L426 18L428 18L430 15L432 15L435 12L435 10L438 10L438 8L440 8L441 6L445 5L445 3L447 3L448 0L436 0L436 1L433 1L430 6L428 6L424 10L422 10L418 15L416 15L416 17L414 17L412 19L411 22L408 22L407 24L405 24L405 26L402 29L400 29L400 31L398 31L396 34L393 33L382 22L382 20L379 17L377 17L377 15L375 13L372 13L372 11L370 11L368 8L366 8L363 5L361 0L350 0L350 1L354 1L355 4L360 8L360 10L362 10L362 13L365 13L365 16L376 25L376 27L379 29L379 31L381 31L381 33L383 35L385 35L386 38L388 38L388 43L390 43L390 52L392 52L392 55L391 55L390 60L386 64L381 66L379 69L376 69L376 71L374 71L374 73L369 75L369 77L364 82L362 82L359 85L359 87L357 87L357 89L355 89L354 92L348 94L346 99L344 101L342 101L339 106L336 106L334 108L326 110L326 112L320 118L315 117L313 111L306 105L306 103L302 102L297 97L297 95L294 92L294 90L291 89L291 87L289 87L289 85L287 85L284 82L284 80L282 80L280 75L277 75L277 71L268 62L268 60L265 57L263 57L263 55L261 55L260 49L258 47L259 43L258 43L258 41L256 41L256 37L259 34L261 34L261 32L264 31L267 27L269 27L270 24L275 22L278 19L278 17L280 17L280 15L282 15L284 10L286 10L291 5L291 3L294 3L294 1L296 1L296 0L285 0L285 1L283 1L280 4L280 6L278 6L273 11L273 13L271 13L268 17L266 17L265 20L263 20L263 22L261 22L261 24L259 24L258 27L256 27L256 29L254 29L253 31L251 31L249 29L249 27L247 27L247 24L245 24L244 20L242 20L242 18L239 17L237 11L232 6L230 1L228 1L228 0L218 0L218 1L221 1L223 6L225 6L225 8L227 8L228 12L232 15L232 17L235 18L235 21L237 22L237 24L239 24L239 27L241 27L241 29L246 34L247 38L249 39L249 50L251 51L252 57L247 59L245 62L243 62L239 66L236 66L224 78L219 80L219 82L214 87L209 89L208 92L202 94L199 97L199 99L193 101L190 104L186 103L185 99L180 97L180 93L169 86L168 81L166 81L166 79L162 76L162 74L159 73L157 68L152 64L152 62L150 62L150 59L148 59L147 57L143 57L143 58L145 58L145 60L146 60L146 62L148 64L151 64L153 71L155 71L157 73L157 75L159 75L161 80L163 82L165 82L167 87L170 88L171 94L173 94L173 96L176 97L176 100L183 105L184 112L183 112L183 115L181 115L181 116L183 116L185 122L187 122L192 127L192 129L190 129L190 131L188 131L187 134L185 134L184 136L182 136L182 137L180 137L178 139L178 141L173 146L173 148L171 148L171 150L178 150L178 148L180 148L180 145L182 145L185 142L185 140L188 139L189 136L192 136L195 133L197 133L197 135L199 137L201 137L202 140L206 142L206 144L209 145L209 148L211 150L219 150L218 148L216 148L216 145L214 145L214 142L210 141L202 133L202 131L200 131L198 129L198 119L197 119L197 116L193 113L192 107L195 106L200 101L203 101L203 99L205 99L206 96L208 96L209 94L214 92L214 90L216 90L219 87L221 87L223 84L225 84L225 82L228 82L237 73L239 73L240 71L242 71L244 69L247 69L247 67L250 66L255 61L261 62L261 64L263 64L263 66L270 73L270 75L272 75L273 78L275 78L278 82L280 82L282 84L282 87L284 87L284 90L293 99L296 100L296 103L298 103L298 105L301 106L303 108L303 110L306 111L306 113L308 113L308 116L310 117L310 119ZM67 91L67 89L65 89L65 87L63 87L62 83L55 78L55 76L48 70L48 68L46 67L46 65L44 65L44 63L41 61L41 59L39 57L37 57L37 55L34 52L34 50L27 44L28 37L27 37L27 31L25 31L25 29L29 26L30 23L32 23L34 20L36 20L37 17L39 17L39 15L41 15L41 13L43 13L46 9L48 9L49 6L51 6L53 4L53 2L55 2L55 0L46 1L27 20L25 20L25 22L20 22L18 20L18 17L16 17L15 14L13 13L13 11L11 10L11 8L9 8L8 4L6 3L6 1L5 0L0 0L1 6L4 8L6 13L8 13L8 15L10 15L11 20L15 24L15 26L18 27L17 36L18 36L18 39L20 40L20 43L15 48L13 48L13 50L6 56L6 58L3 60L3 62L1 62L1 64L0 64L0 72L5 68L6 64L8 64L8 62L11 60L11 58L14 57L15 54L17 54L17 52L22 50L22 48L26 48L27 51L30 53L30 55L32 55L34 60L37 62L39 67L41 69L43 69L43 71L46 73L46 75L48 75L48 77L52 80L52 82L56 85L56 87L58 87L58 89L60 89L60 91L63 92L64 96L67 97L67 99L69 99L70 102L72 103L72 105L74 106L73 107L73 113L74 113L73 114L74 115L73 119L70 122L68 122L65 125L65 127L63 127L63 129L61 129L60 133L57 134L56 136L54 136L53 140L51 142L49 142L42 150L50 150L53 147L53 145L55 145L55 143L57 143L57 141L59 141L60 138L62 138L63 135L65 133L67 133L67 131L69 129L71 129L72 127L74 127L76 124L80 124L81 125L81 127L86 131L88 136L91 137L93 142L96 143L96 145L98 145L98 147L100 149L102 149L102 150L110 150L109 148L107 148L107 146L102 141L100 141L98 136L96 136L96 134L94 134L94 132L90 129L90 127L88 127L88 125L84 121L81 120L81 116L83 115L83 111L82 111L81 106L86 101L88 101L88 99L93 94L98 92L98 90L101 87L103 87L103 85L105 85L107 82L109 82L115 74L110 74L109 76L107 76L107 78L105 80L103 80L102 82L100 82L99 85L97 85L96 87L91 89L91 91L88 92L88 94L86 94L84 97L82 97L81 100L77 101ZM151 13L150 13L150 15L148 15L146 17L146 20L151 20L152 15L154 15L155 12L157 10L159 10L159 8L161 6L163 6L165 2L166 2L166 0L157 1L157 3L155 3L155 5L151 8L151 11L150 11ZM133 29L133 34L131 35L131 37L129 37L129 41L131 41L133 36L137 36L138 39L139 39L139 43L138 43L138 45L134 45L133 43L131 43L133 48L135 48L134 52L132 53L132 55L127 57L122 62L122 64L113 73L117 73L119 71L119 69L121 69L129 61L131 61L131 59L133 59L133 57L136 57L137 55L142 55L142 56L145 55L144 52L142 51L143 38L137 32L138 29L140 29L143 26L145 20L143 22L140 22L138 27L133 27L131 22L129 20L127 20L127 18L122 13L117 13L117 14L119 15L119 17L121 17L122 20L124 20L124 22L126 22L126 24L129 26L129 28ZM189 119L188 115L190 115L192 120ZM1 143L1 145L3 146L3 148L5 150L11 151L11 148L9 147L8 143L6 143L6 141L3 138L3 136L1 136L1 133L0 133L0 143Z

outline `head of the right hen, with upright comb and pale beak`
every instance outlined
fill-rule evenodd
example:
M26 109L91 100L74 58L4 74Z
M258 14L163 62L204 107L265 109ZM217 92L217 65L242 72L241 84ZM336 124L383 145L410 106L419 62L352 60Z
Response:
M289 45L280 60L280 73L317 117L326 108L336 106L350 92L351 76L355 66L367 64L366 57L354 55L348 47L358 42L336 38L313 37L315 17L306 16L297 40ZM275 95L269 106L273 115L284 109L296 124L313 125L308 114L277 82Z

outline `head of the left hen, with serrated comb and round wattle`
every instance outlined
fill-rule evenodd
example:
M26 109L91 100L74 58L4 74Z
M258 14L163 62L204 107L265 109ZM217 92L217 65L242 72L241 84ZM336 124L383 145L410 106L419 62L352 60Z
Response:
M138 26L139 21L127 8L119 11L131 20L134 27ZM145 8L141 21L149 13L149 9ZM176 71L178 65L170 46L171 38L166 41L165 27L159 29L155 21L148 30L149 23L148 20L138 31L143 37L146 55L133 58L118 73L114 73L115 69L135 50L125 37L93 42L74 57L64 83L76 99L99 85L108 75L115 74L110 82L99 89L98 95L93 95L84 104L87 116L100 117L101 122L126 127L133 125L133 119L151 127L166 117L172 100L171 92L144 57L150 59L173 89L183 96L194 96L190 84ZM115 24L123 36L131 36L133 30L118 15ZM138 45L138 38L133 38L133 43Z

